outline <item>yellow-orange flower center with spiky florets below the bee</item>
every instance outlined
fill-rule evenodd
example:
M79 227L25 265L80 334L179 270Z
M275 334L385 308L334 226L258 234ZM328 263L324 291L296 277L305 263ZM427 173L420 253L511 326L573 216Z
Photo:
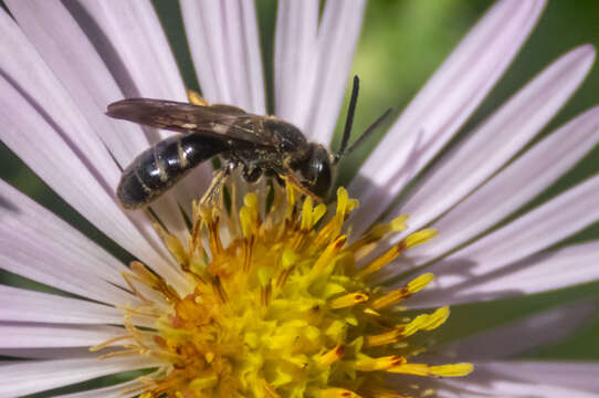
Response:
M350 243L344 221L358 203L345 189L328 217L325 205L300 200L293 188L274 187L267 197L248 193L243 206L233 200L230 211L222 203L195 205L187 242L162 231L192 281L189 292L177 292L143 264L132 264L125 277L146 304L125 308L123 338L134 343L104 358L134 353L164 363L141 378L140 397L408 397L386 388L386 375L472 371L471 364L411 360L422 347L410 345L410 336L439 327L449 308L407 318L398 304L432 274L390 291L369 283L434 230L410 234L368 260L380 239L406 229L407 217ZM144 294L148 286L158 294ZM155 327L134 326L139 316L154 318Z

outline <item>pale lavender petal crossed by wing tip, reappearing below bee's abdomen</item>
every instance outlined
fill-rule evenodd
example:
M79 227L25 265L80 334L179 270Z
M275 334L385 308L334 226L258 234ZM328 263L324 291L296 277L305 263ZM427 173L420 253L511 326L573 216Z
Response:
M127 167L149 146L148 139L139 126L105 115L106 106L122 100L124 94L75 20L57 1L11 0L8 6L92 130L119 166ZM169 231L182 238L187 227L174 198L161 199L154 210Z

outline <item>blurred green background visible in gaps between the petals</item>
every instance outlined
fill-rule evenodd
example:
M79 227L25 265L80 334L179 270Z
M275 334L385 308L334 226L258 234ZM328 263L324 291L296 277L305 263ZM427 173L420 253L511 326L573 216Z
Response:
M526 1L526 0L523 0ZM171 0L155 0L154 4L167 30L174 52L178 59L188 86L197 87L197 80L190 63L187 43L181 27L180 10ZM265 56L267 77L272 74L272 41L276 2L256 2L261 27L261 41ZM441 64L444 57L459 43L481 14L492 4L488 0L376 0L367 7L362 35L358 44L353 73L361 80L360 100L356 116L355 132L366 126L389 106L401 109L418 92L419 87ZM500 80L495 90L486 98L469 126L488 115L518 87L535 76L545 65L566 51L584 44L599 46L599 1L556 0L551 1L538 28L522 49L508 72ZM551 122L549 128L570 119L595 105L599 100L599 71L593 67L585 84L563 112ZM269 90L272 94L272 87ZM272 97L272 95L271 95ZM337 130L339 129L339 126ZM338 132L337 132L338 133ZM368 151L383 134L365 145L362 150L345 161L343 176L347 180ZM124 260L127 254L107 241L71 208L53 195L43 182L31 174L6 147L1 148L0 172L4 180L19 187L38 201L53 209L69 222L82 229L103 245ZM571 172L559 179L547 192L529 206L535 206L564 189L597 174L599 170L599 148L595 148ZM599 238L599 227L582 231L572 240ZM598 259L599 260L599 259ZM599 266L599 261L597 266ZM13 275L3 275L6 283L22 283ZM515 320L529 313L574 300L599 297L599 283L563 290L558 292L501 300L493 303L463 305L453 308L449 323L443 328L442 339L458 334L474 333L497 324ZM599 314L599 312L597 313ZM528 357L559 359L599 359L599 322L597 316L589 320L589 326L565 342L535 349Z

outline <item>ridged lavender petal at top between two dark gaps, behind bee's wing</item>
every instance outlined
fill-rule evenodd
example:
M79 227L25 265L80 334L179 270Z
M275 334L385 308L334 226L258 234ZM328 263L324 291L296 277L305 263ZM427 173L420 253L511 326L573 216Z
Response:
M183 0L181 11L206 100L265 114L254 3Z

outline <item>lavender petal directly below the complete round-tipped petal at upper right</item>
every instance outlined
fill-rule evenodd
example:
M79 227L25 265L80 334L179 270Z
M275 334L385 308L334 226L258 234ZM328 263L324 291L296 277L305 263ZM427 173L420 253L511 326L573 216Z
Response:
M576 117L434 222L440 239L411 253L435 259L493 227L569 170L599 140L599 107ZM410 219L410 228L412 220Z

